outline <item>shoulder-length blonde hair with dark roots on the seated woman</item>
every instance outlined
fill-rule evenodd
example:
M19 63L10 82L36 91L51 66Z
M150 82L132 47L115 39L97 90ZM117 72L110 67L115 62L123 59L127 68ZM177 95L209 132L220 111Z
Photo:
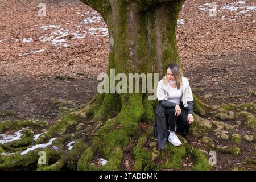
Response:
M179 64L177 63L171 63L168 64L166 67L166 75L163 77L164 80L164 84L168 84L168 78L167 78L167 69L171 69L172 74L174 74L175 80L176 80L176 84L177 84L177 88L180 89L180 86L182 84L182 77L183 77L183 73L182 70L179 66Z

